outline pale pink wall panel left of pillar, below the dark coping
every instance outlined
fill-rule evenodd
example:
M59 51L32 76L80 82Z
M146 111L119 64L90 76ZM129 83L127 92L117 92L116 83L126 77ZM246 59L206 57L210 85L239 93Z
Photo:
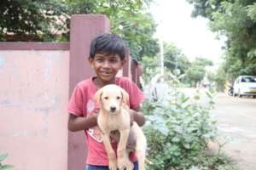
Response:
M9 153L4 163L15 170L67 169L68 75L68 50L0 46L0 153Z

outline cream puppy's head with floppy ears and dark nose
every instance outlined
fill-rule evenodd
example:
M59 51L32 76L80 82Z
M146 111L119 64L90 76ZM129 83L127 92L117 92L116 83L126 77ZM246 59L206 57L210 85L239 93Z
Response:
M95 100L101 104L101 109L110 114L119 113L121 105L127 105L129 95L123 88L109 84L99 89L95 94Z

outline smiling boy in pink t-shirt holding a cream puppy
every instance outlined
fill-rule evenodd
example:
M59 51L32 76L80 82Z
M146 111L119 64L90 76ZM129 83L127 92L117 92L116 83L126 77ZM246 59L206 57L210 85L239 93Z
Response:
M85 170L108 170L108 156L96 122L98 106L93 100L94 94L97 89L107 84L117 84L124 88L130 95L131 120L137 122L139 126L143 126L145 122L143 114L139 112L144 96L130 79L116 77L126 62L125 42L118 36L103 34L96 37L90 44L89 62L96 72L96 77L79 82L74 88L68 104L68 129L73 132L84 130L88 146ZM116 142L112 141L112 144L116 150ZM134 162L134 170L137 170L134 153L131 154L130 159Z

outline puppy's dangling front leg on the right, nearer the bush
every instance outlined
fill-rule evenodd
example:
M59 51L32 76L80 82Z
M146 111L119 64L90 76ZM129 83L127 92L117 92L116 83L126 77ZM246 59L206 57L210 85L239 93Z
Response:
M120 140L118 144L118 167L119 170L125 169L127 166L125 162L125 150L126 150L126 144L129 137L130 129L120 130Z

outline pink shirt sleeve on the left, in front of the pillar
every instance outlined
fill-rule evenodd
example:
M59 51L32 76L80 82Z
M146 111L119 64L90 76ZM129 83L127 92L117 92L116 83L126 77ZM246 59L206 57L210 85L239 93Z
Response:
M82 90L76 86L69 100L67 111L75 116L83 116L83 94Z

